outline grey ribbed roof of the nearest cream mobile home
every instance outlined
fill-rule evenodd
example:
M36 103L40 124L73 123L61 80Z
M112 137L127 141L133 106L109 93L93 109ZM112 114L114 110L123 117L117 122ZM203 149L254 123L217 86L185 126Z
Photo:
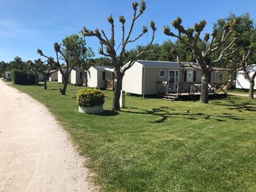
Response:
M181 68L181 66L178 65L177 62L157 61L157 60L137 60L137 62L148 68ZM194 64L196 63L193 63L193 65Z

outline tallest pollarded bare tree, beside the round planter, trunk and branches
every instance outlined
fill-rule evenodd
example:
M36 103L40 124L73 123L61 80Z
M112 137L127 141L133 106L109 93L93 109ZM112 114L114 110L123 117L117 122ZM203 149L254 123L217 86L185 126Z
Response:
M139 11L137 10L139 7ZM114 77L116 79L116 82L114 84L114 97L112 102L112 110L120 110L119 105L119 97L121 95L122 90L122 79L124 77L124 73L126 70L132 67L132 65L137 61L137 59L146 53L147 50L149 50L149 46L153 43L154 40L154 33L156 31L154 21L150 21L149 25L153 31L151 42L149 45L144 48L143 50L139 50L137 55L134 59L130 60L127 65L125 65L125 62L127 60L127 50L126 46L129 43L133 43L134 41L137 41L139 38L141 38L145 33L148 32L148 28L146 26L142 27L142 33L140 33L136 38L131 39L132 31L134 29L134 23L137 21L139 16L142 16L144 11L146 10L146 3L144 1L140 1L140 3L134 2L132 3L132 8L134 10L131 26L129 27L127 36L125 36L125 23L126 20L124 16L119 16L119 22L122 24L122 39L119 43L119 46L116 48L115 44L116 41L114 39L114 19L112 18L112 15L110 15L107 18L107 21L111 25L111 35L110 38L107 38L105 31L100 31L96 28L95 31L90 31L87 28L82 28L82 36L90 37L94 36L99 39L100 41L100 48L99 53L101 55L104 55L105 57L111 58L111 65L114 68ZM138 11L138 12L137 12ZM119 49L120 48L120 49ZM117 53L117 50L119 50L119 54Z

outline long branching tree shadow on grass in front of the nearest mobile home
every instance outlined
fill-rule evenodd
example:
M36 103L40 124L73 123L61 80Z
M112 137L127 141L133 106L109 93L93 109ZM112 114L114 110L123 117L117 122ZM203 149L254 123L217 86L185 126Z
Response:
M145 112L132 112L132 111L124 111L129 113L135 113L135 114L149 114L154 115L156 117L160 117L159 120L156 120L151 123L161 123L165 122L168 118L183 118L183 119L191 119L191 120L197 120L197 119L206 119L210 120L213 119L218 122L224 122L225 119L233 119L233 120L243 120L242 118L235 117L231 113L222 113L222 114L206 114L202 112L191 112L190 110L186 110L186 112L176 112L171 107L159 107L159 108L153 108L152 110L147 110Z

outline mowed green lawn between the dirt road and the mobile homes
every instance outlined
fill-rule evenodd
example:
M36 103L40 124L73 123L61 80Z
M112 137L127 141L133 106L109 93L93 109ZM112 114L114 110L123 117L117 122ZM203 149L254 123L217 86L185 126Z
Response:
M84 87L13 85L42 102L78 145L102 191L256 191L256 101L168 102L126 95L126 108L78 112Z

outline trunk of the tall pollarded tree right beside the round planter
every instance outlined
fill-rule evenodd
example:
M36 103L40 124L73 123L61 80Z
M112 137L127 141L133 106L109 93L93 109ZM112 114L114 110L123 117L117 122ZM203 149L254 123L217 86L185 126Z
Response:
M120 72L117 72L115 74L115 77L117 79L117 82L114 82L114 98L112 102L112 110L113 111L119 111L120 110L120 95L121 95L121 90L122 90L122 79L124 75Z

